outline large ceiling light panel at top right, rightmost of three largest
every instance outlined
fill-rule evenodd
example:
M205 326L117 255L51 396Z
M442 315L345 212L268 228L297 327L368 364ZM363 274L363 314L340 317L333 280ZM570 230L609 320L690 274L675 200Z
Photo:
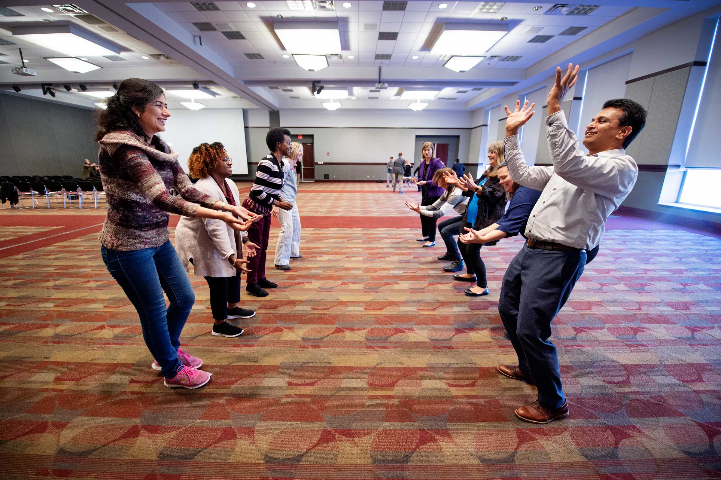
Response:
M483 56L508 33L508 25L446 23L431 55Z

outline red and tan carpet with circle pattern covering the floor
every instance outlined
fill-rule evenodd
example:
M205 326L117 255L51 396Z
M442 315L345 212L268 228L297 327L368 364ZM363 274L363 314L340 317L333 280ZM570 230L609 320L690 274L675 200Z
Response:
M0 211L0 477L721 478L721 240L617 222L554 321L571 416L533 425L513 411L534 388L495 371L521 241L482 250L491 294L469 299L440 238L415 242L411 190L302 184L304 258L269 254L280 288L243 294L237 339L209 335L191 276L182 341L213 379L182 391L102 264L104 211Z

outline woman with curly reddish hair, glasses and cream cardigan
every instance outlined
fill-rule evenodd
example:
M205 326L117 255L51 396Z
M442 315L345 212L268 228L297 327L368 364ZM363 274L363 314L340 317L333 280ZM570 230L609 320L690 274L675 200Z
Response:
M233 161L223 144L200 144L187 161L190 173L200 178L198 191L229 205L240 205L235 182L228 180L233 173ZM242 206L240 209L245 210ZM250 212L248 212L250 214ZM249 242L247 232L236 232L225 222L216 219L181 217L175 228L175 243L185 271L190 266L195 275L202 276L211 289L214 336L236 337L243 329L226 320L252 318L253 310L238 306L240 302L240 274L247 273L240 240L249 257L255 256L257 246Z

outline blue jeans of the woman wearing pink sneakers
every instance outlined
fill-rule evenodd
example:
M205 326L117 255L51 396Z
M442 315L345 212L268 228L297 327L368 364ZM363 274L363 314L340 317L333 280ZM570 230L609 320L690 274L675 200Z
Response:
M157 248L130 251L101 247L100 253L107 271L136 307L143 340L162 367L163 376L173 378L180 367L180 332L195 293L172 243L168 240ZM168 307L163 292L170 300Z

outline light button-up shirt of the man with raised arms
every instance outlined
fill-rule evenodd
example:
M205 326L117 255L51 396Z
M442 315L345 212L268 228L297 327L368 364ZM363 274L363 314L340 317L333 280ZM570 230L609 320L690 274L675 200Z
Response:
M638 167L624 149L585 155L563 111L546 117L552 167L526 165L518 135L503 142L510 178L541 190L526 237L590 250L601 243L609 215L628 196Z

